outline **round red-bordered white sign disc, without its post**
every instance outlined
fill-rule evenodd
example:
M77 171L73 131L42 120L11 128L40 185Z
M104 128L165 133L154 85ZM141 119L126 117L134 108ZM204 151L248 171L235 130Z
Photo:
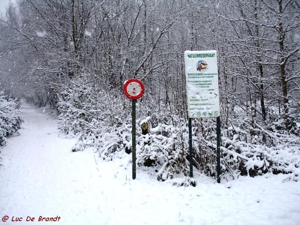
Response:
M125 81L123 91L126 97L131 100L136 100L143 95L145 88L140 80L129 79Z

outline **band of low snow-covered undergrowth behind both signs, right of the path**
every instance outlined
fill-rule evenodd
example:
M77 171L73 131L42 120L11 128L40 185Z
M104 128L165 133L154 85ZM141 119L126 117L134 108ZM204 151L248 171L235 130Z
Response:
M78 138L73 151L92 147L103 160L131 153L130 100L121 91L101 92L84 83L82 79L72 82L59 98L60 133ZM171 114L167 108L157 110L157 105L145 96L137 102L136 109L136 162L160 181L188 176L189 171L187 119ZM291 107L293 114L299 113L298 108ZM267 120L260 121L235 108L227 118L229 125L222 122L221 178L286 173L288 179L299 180L299 116L284 118L276 114L275 108L268 113ZM222 116L221 119L224 120ZM144 122L149 129L143 135L140 126ZM214 119L192 121L193 165L216 178L215 127ZM191 183L188 180L184 185Z

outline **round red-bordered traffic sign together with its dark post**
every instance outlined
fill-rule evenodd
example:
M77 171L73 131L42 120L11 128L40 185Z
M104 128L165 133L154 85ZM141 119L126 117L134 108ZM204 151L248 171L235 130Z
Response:
M143 83L138 79L129 79L124 82L123 92L125 96L131 99L131 117L132 117L132 179L136 178L136 121L135 121L135 103L145 91Z

